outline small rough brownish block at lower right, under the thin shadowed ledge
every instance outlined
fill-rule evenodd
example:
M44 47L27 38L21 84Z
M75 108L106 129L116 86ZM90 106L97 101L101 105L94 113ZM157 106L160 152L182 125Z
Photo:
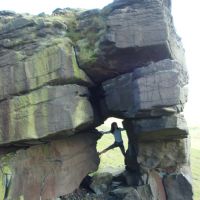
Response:
M176 168L189 162L188 141L139 142L137 160L144 169Z

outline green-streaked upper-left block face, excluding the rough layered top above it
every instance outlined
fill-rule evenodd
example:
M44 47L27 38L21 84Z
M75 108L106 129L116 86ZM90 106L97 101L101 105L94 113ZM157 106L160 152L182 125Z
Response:
M92 85L78 67L73 47L67 39L49 47L41 44L40 50L26 58L14 50L0 55L0 100L47 84L67 83Z

